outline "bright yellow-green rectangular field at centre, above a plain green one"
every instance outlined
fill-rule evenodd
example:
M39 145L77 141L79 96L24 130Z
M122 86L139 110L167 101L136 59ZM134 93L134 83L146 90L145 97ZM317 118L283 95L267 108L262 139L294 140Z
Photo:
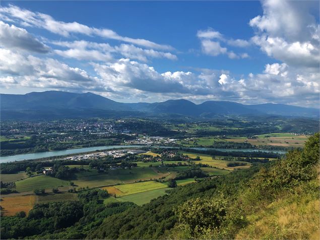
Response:
M130 194L147 192L155 189L167 188L168 186L154 181L147 181L134 184L117 185L114 187L121 191L121 196L125 196Z

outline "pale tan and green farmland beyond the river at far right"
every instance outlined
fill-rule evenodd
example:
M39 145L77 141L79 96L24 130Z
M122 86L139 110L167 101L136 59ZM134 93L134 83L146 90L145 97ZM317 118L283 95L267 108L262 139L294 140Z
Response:
M309 136L295 136L287 133L273 133L257 135L257 138L236 138L230 137L226 139L229 142L249 143L255 146L279 146L279 147L303 147Z

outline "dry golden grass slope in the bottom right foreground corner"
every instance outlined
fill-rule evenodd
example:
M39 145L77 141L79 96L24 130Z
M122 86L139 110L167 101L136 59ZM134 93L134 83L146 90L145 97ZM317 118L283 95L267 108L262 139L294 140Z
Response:
M247 217L249 224L235 239L320 239L318 196L279 198Z

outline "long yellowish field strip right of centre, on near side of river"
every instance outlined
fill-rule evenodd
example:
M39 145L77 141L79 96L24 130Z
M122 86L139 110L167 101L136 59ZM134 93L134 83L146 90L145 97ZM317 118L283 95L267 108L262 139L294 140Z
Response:
M245 162L248 166L228 167L227 164L230 163L230 161L212 159L212 156L207 154L184 152L184 151L179 151L179 153L182 153L183 155L188 155L191 158L196 158L197 156L199 156L200 161L195 161L196 164L197 162L200 162L203 164L208 164L209 166L213 166L213 167L217 167L225 170L233 170L234 168L247 168L248 166L251 165L251 163ZM232 161L232 162L243 163L244 161Z

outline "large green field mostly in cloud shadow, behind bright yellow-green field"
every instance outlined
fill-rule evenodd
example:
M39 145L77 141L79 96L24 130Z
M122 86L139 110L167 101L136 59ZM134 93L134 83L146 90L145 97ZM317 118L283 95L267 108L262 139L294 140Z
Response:
M108 170L106 173L98 173L96 169L90 169L90 171L76 173L77 179L73 180L73 182L79 187L85 188L88 186L89 188L95 188L133 183L139 180L150 180L150 178L159 178L163 175L165 173L157 172L157 169L153 167L117 168L115 170Z

